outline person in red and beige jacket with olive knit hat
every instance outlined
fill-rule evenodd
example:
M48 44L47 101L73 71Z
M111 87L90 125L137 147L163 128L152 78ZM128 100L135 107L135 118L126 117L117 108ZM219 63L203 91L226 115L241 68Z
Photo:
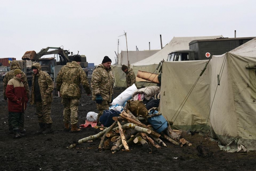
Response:
M21 79L22 72L20 69L14 70L14 77L8 81L5 95L8 98L8 111L14 132L14 138L21 138L25 134L19 132L21 116L26 110L28 102L26 89Z

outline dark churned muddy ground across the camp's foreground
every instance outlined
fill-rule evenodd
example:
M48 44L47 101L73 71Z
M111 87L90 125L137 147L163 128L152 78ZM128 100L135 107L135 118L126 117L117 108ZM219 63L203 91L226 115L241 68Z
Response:
M38 119L35 106L28 105L25 112L26 137L13 139L8 133L7 102L2 96L0 85L0 170L256 170L256 152L227 153L219 150L216 142L199 134L182 134L193 145L175 146L164 141L167 147L151 147L149 153L141 145L129 144L131 151L118 151L112 154L109 149L99 151L100 139L79 144L68 149L74 141L97 134L99 130L83 128L82 132L63 131L63 105L54 96L51 117L54 133L36 135ZM123 90L114 90L114 97ZM91 96L82 94L79 106L79 124L84 124L88 112L96 110ZM201 146L203 155L196 150Z

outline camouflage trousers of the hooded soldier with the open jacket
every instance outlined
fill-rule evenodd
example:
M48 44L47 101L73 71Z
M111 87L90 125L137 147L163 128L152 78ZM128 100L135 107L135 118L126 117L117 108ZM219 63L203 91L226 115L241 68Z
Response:
M36 113L38 115L38 122L43 124L52 124L51 120L51 103L42 105L42 102L36 102Z

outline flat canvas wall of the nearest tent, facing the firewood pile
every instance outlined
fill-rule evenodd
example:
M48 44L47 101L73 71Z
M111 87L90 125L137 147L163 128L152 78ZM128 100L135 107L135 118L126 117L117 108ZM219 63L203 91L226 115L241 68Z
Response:
M173 122L174 129L191 132L210 130L210 122L207 121L210 111L209 67L184 101L207 61L163 62L160 112Z

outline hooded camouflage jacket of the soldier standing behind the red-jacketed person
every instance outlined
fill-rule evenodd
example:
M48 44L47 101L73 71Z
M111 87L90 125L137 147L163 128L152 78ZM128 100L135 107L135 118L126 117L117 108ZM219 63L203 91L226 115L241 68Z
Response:
M4 80L3 80L3 94L4 94L4 99L7 100L7 97L5 95L5 90L7 87L7 83L8 81L10 81L10 79L12 79L14 77L14 70L15 69L21 69L20 64L18 61L12 61L11 67L10 67L11 71L7 72L4 76ZM24 84L24 87L26 89L26 95L29 98L29 85L28 85L28 80L26 77L26 74L24 72L21 72L21 79L23 80L22 83Z

